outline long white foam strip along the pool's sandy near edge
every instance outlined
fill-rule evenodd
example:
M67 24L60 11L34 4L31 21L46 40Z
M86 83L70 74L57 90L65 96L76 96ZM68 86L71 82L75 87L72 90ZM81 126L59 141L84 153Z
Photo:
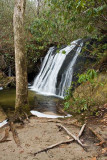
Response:
M59 115L50 115L50 114L44 114L38 111L30 111L33 115L37 117L44 117L44 118L66 118L66 117L71 117L72 115L67 114L67 116L59 116Z

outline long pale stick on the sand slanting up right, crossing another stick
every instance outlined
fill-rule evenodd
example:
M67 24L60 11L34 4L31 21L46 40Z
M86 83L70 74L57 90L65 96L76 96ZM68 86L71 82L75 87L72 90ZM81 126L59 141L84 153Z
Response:
M61 125L61 126L62 126L62 125ZM78 137L80 137L80 136L82 135L85 126L86 126L85 124L82 126L82 128L81 128L81 130L80 130L80 132L79 132L79 134L78 134ZM68 131L68 133L69 133L69 131ZM71 133L69 133L69 135L71 136ZM79 139L78 137L75 137L75 139ZM58 143L56 143L56 144L53 144L53 145L51 145L51 146L49 146L49 147L47 147L47 148L45 148L45 149L42 149L42 150L40 150L40 151L35 152L35 153L34 153L34 156L36 156L38 153L41 153L41 152L47 152L48 150L53 149L53 148L55 148L55 147L58 147L58 146L60 146L61 144L69 144L69 143L73 142L75 139L73 138L73 139L69 139L69 140L67 140L67 141L61 141L61 142L58 142Z

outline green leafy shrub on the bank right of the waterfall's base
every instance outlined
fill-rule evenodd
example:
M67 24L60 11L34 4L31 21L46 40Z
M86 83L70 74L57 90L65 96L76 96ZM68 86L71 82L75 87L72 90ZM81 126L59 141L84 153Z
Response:
M72 113L82 113L88 111L89 114L97 114L97 108L93 106L97 105L94 101L93 93L96 86L102 86L103 83L97 82L97 72L94 69L88 70L86 73L79 75L78 83L83 83L83 90L72 94L70 96L69 92L65 97L64 109L71 111ZM88 87L88 93L86 93L86 86Z

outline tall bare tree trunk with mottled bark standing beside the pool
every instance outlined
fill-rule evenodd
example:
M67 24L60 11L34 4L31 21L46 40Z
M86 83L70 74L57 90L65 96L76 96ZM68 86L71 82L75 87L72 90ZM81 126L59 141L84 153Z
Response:
M26 112L28 105L27 64L24 36L24 12L26 0L15 0L13 27L16 69L16 102L17 113Z

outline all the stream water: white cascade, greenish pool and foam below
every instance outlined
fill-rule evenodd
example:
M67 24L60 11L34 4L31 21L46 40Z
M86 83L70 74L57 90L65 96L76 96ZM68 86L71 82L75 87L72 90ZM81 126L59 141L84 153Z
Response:
M73 68L82 46L82 40L76 40L59 52L55 47L49 49L43 60L41 70L29 90L32 114L47 118L61 116L56 105L60 98L64 98L66 90L71 85ZM15 89L2 89L0 87L0 105L5 112L14 110Z

